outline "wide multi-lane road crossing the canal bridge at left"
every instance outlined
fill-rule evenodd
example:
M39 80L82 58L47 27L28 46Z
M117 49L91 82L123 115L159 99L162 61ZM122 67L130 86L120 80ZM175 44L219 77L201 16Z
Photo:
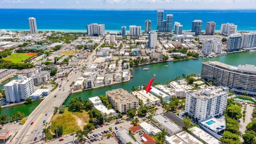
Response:
M98 48L101 44L102 42L99 44ZM56 55L62 52L65 48L66 46L51 55ZM92 56L94 57L92 58ZM88 57L86 64L92 63L95 57L96 52L94 50L94 52ZM77 69L81 69L82 66L83 65L80 65ZM28 120L26 120L25 124L22 126L22 128L18 131L18 134L13 139L14 144L30 144L32 142L39 142L40 137L42 136L42 130L44 128L43 121L46 120L46 122L50 122L50 119L54 112L54 106L61 106L61 104L70 94L70 84L73 81L76 82L77 78L79 78L81 74L82 73L79 70L77 70L76 73L73 72L68 76L68 82L64 80L62 82L61 88L57 88L48 96L46 96L46 98L38 105L38 107L28 116ZM56 98L54 98L55 95ZM46 113L48 114L47 116ZM32 122L34 123L31 125ZM36 128L38 128L38 131L34 131L32 133L32 130L35 130ZM38 138L36 141L34 141L35 137Z

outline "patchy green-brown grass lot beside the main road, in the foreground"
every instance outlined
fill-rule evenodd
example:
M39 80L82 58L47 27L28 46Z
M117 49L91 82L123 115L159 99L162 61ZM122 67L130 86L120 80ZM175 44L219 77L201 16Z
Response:
M65 109L63 114L54 114L50 122L52 122L51 130L54 132L55 126L63 127L63 134L70 134L76 132L77 129L82 130L84 125L88 123L88 112L68 112L68 108Z

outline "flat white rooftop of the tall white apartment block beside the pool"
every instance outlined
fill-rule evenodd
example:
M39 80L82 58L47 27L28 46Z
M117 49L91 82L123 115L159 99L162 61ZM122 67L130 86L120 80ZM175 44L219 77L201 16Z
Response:
M208 98L214 98L223 94L228 94L228 92L223 91L223 86L208 86L206 88L191 90L187 93L191 94L194 97L200 98L202 100Z

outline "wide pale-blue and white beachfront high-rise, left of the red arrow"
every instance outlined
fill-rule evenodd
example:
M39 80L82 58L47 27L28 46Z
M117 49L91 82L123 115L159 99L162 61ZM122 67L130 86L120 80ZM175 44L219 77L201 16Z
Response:
M88 36L103 36L105 33L105 24L87 24L87 35Z

